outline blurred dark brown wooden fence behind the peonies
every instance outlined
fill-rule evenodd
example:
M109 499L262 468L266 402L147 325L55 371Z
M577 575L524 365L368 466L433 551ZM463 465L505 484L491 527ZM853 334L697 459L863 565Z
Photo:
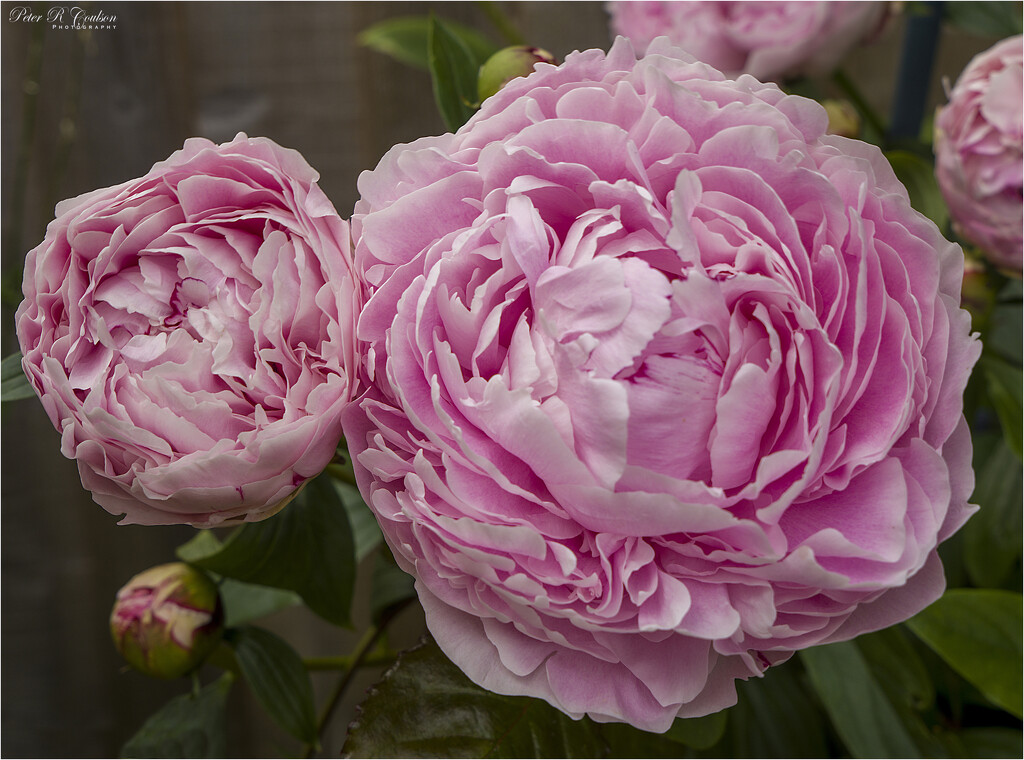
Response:
M55 3L2 3L3 355L16 349L20 261L42 240L57 201L140 176L186 137L220 142L244 131L300 151L347 217L359 172L395 143L444 131L427 74L361 47L358 33L385 18L433 10L501 39L474 2L81 5L90 14L115 16L109 23L114 28L52 29L15 20L16 9L45 15ZM603 3L497 5L529 44L559 60L574 49L610 44ZM905 13L895 15L843 67L883 115L892 105L905 25ZM944 101L942 80L954 80L993 42L943 30L926 113ZM117 756L144 719L184 692L187 682L161 683L123 667L108 630L114 596L129 577L173 560L174 548L194 532L118 526L82 489L35 400L5 404L0 424L0 753ZM366 616L368 600L357 597L356 605ZM304 608L261 625L305 657L347 651L355 638ZM396 643L414 643L422 614L407 609L394 629ZM337 756L355 705L379 675L367 669L353 684L325 756ZM330 676L314 675L321 699L331 684ZM232 690L231 756L282 756L294 747L246 689Z

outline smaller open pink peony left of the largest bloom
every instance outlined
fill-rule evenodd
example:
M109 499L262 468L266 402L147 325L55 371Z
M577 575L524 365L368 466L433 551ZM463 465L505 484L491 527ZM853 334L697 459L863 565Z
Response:
M260 519L333 456L359 303L316 178L268 139L189 139L58 204L29 253L25 372L124 522Z

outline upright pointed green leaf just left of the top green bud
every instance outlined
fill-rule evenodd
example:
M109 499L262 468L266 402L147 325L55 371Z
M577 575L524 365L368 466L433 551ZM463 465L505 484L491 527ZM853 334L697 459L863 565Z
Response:
M465 43L434 15L427 28L430 79L434 100L447 128L455 132L476 113L479 64Z

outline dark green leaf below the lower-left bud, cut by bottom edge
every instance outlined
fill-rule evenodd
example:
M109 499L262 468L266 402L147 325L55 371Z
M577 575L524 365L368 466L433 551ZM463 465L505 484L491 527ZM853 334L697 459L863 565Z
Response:
M224 757L224 709L233 678L224 673L198 693L175 696L125 743L121 757Z

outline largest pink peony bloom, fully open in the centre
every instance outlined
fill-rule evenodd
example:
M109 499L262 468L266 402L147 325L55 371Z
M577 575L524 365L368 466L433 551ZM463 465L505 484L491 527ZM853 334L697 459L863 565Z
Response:
M941 593L963 255L826 123L618 39L359 178L345 432L477 683L665 730Z

